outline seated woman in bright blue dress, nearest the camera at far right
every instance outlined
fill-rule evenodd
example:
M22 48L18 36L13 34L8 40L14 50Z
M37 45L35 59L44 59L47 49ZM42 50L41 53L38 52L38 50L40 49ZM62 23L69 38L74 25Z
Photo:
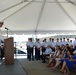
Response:
M67 75L70 75L70 70L75 70L74 64L76 64L76 54L73 55L73 53L69 51L69 59L64 60L60 72L64 72L66 69Z

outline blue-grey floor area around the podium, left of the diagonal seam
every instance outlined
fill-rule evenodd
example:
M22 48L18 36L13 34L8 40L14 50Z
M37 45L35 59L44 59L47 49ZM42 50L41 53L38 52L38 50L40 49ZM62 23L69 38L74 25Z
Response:
M5 65L4 60L0 60L0 75L27 75L21 64L15 59L14 65Z

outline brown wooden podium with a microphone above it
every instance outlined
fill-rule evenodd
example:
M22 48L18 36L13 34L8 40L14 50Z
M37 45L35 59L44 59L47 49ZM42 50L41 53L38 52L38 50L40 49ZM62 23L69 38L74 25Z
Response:
M14 64L14 43L13 37L4 39L4 50L5 50L5 64Z

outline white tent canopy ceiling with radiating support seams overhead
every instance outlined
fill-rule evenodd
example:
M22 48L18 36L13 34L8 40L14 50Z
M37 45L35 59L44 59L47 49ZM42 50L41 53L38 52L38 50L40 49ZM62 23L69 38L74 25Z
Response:
M76 0L0 0L1 28L16 34L76 32Z

